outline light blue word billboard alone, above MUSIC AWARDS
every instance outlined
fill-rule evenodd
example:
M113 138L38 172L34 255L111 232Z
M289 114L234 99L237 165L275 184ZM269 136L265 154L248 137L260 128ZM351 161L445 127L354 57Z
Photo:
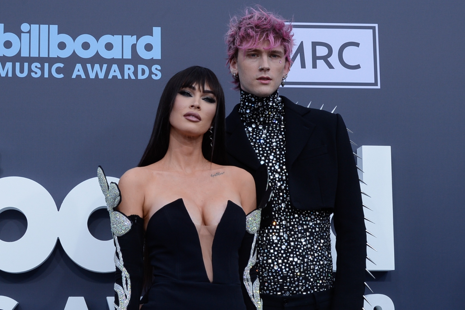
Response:
M90 34L81 34L73 40L65 33L58 33L57 25L21 25L20 36L5 33L0 24L0 56L21 57L69 57L75 52L81 58L90 58L96 53L106 59L131 59L132 46L143 59L161 59L160 27L153 27L151 35L137 40L135 35L106 34L95 39ZM59 46L60 45L60 46ZM148 49L147 49L148 47Z

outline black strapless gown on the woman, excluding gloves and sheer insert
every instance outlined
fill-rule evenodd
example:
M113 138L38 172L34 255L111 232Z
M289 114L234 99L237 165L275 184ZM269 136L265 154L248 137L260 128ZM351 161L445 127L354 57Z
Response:
M210 283L199 235L182 198L159 209L146 228L154 277L142 310L245 310L240 281L244 270L239 271L245 236L246 214L228 201L213 238Z

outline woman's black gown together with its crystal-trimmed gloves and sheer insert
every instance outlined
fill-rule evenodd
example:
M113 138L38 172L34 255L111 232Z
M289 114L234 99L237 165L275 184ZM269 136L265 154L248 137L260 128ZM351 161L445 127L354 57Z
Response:
M115 309L139 310L142 303L142 310L261 310L259 282L250 271L261 209L271 191L248 215L228 200L216 227L195 225L179 198L156 211L144 232L142 218L113 210L120 191L107 184L101 167L98 177L116 247ZM144 240L153 280L140 300Z

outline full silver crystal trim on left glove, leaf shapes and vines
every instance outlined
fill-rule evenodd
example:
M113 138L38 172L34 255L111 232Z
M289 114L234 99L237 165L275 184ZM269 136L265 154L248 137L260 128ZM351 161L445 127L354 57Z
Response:
M99 167L97 169L97 178L99 179L100 188L102 189L103 195L105 195L106 208L110 213L110 224L113 233L113 240L116 245L116 252L114 255L115 266L121 271L121 279L123 286L114 284L113 288L118 294L119 306L113 303L116 310L126 310L131 300L131 279L129 278L129 272L127 272L123 263L123 254L121 254L120 243L118 237L123 236L131 230L131 221L123 213L114 211L113 209L120 204L121 192L116 183L112 182L108 185L103 169Z

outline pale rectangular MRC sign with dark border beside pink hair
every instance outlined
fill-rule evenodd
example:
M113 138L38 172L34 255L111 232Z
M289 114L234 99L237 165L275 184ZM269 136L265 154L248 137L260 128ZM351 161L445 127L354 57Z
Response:
M377 24L293 23L285 87L379 88Z

